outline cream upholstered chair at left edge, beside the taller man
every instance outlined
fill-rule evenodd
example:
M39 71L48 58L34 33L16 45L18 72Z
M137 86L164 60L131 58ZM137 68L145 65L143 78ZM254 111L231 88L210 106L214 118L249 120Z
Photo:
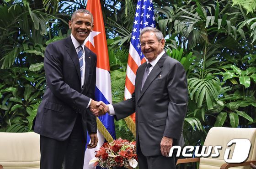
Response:
M4 169L39 169L40 135L0 132L0 164Z

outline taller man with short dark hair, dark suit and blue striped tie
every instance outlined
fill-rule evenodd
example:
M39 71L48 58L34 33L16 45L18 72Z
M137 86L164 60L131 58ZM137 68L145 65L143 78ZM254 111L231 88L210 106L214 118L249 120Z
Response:
M69 20L71 35L46 47L47 87L38 107L34 132L40 134L41 169L83 169L86 129L88 148L97 145L96 54L85 46L93 28L88 10L76 10ZM99 111L103 111L101 108Z

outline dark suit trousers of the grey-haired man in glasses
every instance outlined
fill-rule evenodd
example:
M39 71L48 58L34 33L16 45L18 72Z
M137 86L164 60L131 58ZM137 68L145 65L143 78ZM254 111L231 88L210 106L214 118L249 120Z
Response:
M140 149L140 143L138 138L138 161L139 169L175 169L177 158L165 157L162 155L156 156L144 156Z

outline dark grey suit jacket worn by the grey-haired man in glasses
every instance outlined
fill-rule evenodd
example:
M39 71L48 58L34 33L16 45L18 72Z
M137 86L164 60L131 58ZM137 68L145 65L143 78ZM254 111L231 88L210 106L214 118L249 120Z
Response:
M136 138L145 156L161 155L163 136L181 145L182 127L187 112L187 77L179 61L165 53L149 73L141 90L146 63L136 73L132 98L113 104L116 119L136 112ZM181 137L182 136L182 137ZM138 143L138 141L137 141Z

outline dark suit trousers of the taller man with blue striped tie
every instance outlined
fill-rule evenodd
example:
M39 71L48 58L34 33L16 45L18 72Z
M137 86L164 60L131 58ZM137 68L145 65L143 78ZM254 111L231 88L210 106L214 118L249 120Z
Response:
M58 141L40 135L40 169L83 169L85 145L81 123L78 113L74 128L65 141Z

